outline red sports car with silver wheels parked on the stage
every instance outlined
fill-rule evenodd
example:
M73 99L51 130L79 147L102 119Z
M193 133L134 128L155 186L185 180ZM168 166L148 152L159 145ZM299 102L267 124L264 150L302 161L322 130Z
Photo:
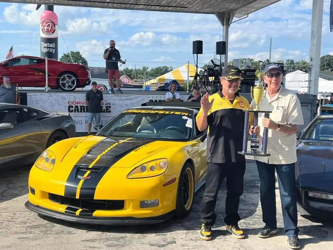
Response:
M47 60L48 87L73 91L84 88L91 82L89 67L82 64ZM36 56L17 56L0 63L0 84L3 77L19 87L45 87L45 58Z

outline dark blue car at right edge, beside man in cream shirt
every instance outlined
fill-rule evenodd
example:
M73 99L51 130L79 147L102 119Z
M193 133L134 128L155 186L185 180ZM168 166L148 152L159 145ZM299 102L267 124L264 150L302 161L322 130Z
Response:
M296 190L298 211L333 217L333 115L320 115L298 139Z

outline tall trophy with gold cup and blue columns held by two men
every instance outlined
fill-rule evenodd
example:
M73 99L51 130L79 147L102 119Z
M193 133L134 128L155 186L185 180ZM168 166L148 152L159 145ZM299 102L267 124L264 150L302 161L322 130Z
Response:
M260 141L257 138L256 134L252 134L251 138L251 152L247 152L247 133L248 133L248 125L249 125L249 116L250 113L253 113L253 126L258 126L258 115L259 113L265 113L265 118L269 118L269 114L272 113L271 111L262 111L259 108L259 103L265 98L266 90L263 85L263 77L265 73L259 72L258 70L255 72L255 76L258 77L258 85L252 87L251 86L251 98L255 102L256 106L252 110L244 110L245 112L245 122L244 122L244 131L243 131L243 148L242 151L238 151L238 154L241 155L252 155L252 156L270 156L267 154L267 135L268 129L264 128L263 137L262 137L262 147L261 152L259 150Z

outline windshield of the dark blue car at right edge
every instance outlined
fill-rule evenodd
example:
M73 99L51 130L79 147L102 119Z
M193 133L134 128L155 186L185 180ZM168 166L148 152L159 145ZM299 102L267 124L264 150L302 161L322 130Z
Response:
M317 119L300 139L310 141L332 141L333 118Z

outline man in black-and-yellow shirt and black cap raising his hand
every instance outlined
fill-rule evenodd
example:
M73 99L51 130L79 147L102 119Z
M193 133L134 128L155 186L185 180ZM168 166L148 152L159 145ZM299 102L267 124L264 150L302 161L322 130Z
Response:
M228 65L220 77L221 89L201 98L201 108L196 116L197 127L200 131L208 127L207 134L207 164L205 192L202 198L201 230L203 240L211 239L211 227L215 224L214 212L218 190L226 178L227 195L225 201L226 230L237 239L243 239L244 233L238 227L239 199L243 194L243 178L245 173L245 156L242 151L244 131L244 109L249 109L247 99L237 91L240 86L241 71ZM253 115L250 113L250 124ZM258 133L259 127L254 128Z

